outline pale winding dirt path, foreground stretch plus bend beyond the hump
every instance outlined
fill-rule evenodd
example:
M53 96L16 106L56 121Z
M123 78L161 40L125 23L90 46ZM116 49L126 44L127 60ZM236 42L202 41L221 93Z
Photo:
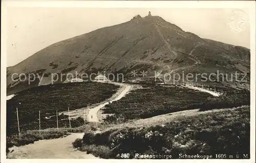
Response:
M117 101L126 95L132 88L130 85L113 83L119 85L122 88L109 100L104 101L102 104L97 105L89 111L88 119L90 122L97 122L97 112L100 108L104 107L109 102ZM51 140L40 140L34 142L34 144L28 144L20 147L12 147L9 150L13 151L8 154L7 158L80 158L90 159L98 158L92 154L75 150L72 143L77 138L82 138L83 133L71 133L65 138L51 139Z

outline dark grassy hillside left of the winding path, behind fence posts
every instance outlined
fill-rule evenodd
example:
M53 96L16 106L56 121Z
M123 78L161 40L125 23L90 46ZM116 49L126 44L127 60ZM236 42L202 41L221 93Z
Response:
M119 86L106 83L83 82L54 84L18 92L7 101L7 135L17 132L16 107L20 130L38 129L39 111L41 128L56 127L56 111L75 110L110 98ZM49 118L47 118L49 117ZM68 127L68 116L59 115L59 127ZM83 119L73 119L72 127L83 124Z

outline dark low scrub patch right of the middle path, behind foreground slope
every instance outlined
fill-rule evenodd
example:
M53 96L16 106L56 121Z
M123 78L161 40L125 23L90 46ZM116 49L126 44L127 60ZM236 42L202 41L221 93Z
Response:
M181 87L161 87L138 89L125 97L106 105L105 121L112 123L117 118L124 121L144 119L162 114L199 108L211 95Z

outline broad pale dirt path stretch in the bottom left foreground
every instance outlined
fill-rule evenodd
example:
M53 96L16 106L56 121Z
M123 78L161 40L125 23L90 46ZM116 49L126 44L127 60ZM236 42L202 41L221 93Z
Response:
M7 158L98 158L72 147L72 142L82 137L83 133L71 133L65 138L40 140L34 144L12 147L10 150L14 151L9 153Z

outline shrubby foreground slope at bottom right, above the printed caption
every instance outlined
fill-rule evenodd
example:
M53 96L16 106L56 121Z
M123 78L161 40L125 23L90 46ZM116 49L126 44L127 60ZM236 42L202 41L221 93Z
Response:
M81 151L101 158L121 158L121 153L172 155L226 154L244 158L250 150L250 107L178 117L151 127L120 127L94 134L86 132L76 140Z

